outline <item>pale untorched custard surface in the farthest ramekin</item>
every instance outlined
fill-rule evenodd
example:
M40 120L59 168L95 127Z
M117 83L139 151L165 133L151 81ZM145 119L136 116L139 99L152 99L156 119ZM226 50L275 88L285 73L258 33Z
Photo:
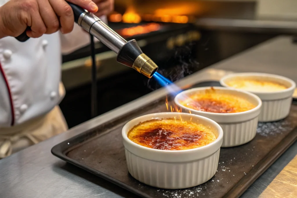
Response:
M235 79L226 83L228 86L246 91L274 92L287 89L285 85L269 80Z

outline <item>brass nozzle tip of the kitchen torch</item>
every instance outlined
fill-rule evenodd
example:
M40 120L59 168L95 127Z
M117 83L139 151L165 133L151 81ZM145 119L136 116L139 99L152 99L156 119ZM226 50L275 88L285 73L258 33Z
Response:
M135 59L132 68L146 77L151 78L157 71L158 66L148 56L142 53Z

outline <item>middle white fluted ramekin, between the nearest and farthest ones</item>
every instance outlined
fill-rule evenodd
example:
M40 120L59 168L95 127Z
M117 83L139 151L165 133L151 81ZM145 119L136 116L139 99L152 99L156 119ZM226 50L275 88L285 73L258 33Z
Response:
M205 90L210 88L211 87L200 87L188 89L179 93L174 98L174 102L187 112L191 111L191 113L205 116L219 123L224 131L222 147L238 146L251 141L257 132L258 116L260 114L260 108L262 105L260 98L255 94L225 87L214 87L218 93L232 94L234 96L243 97L256 106L251 110L239 113L211 113L198 111L185 107L179 102L192 94L204 94Z

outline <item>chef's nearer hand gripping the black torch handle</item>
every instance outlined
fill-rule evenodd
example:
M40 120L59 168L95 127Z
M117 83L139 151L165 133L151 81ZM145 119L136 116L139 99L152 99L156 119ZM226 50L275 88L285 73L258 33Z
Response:
M97 12L91 0L68 0L89 12ZM0 38L17 37L27 26L29 37L52 34L59 29L63 34L72 31L74 16L72 8L64 0L10 0L0 7Z

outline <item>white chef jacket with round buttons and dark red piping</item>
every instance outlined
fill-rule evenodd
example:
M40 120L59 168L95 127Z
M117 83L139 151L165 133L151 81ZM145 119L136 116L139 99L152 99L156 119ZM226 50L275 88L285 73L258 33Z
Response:
M8 0L0 0L0 6ZM101 18L106 21L106 17ZM44 34L19 42L0 39L0 128L44 115L64 97L61 53L88 45L89 34L77 24L69 34Z

